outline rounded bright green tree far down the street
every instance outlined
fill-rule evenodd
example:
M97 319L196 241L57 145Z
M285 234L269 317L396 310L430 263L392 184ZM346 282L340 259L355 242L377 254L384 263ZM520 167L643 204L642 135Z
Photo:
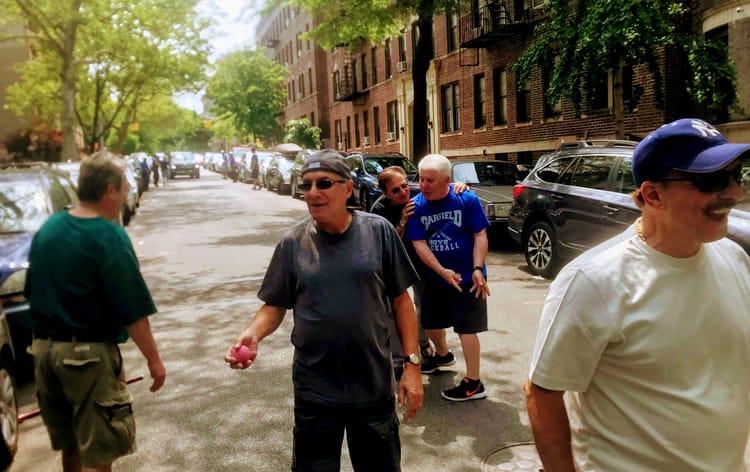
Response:
M275 140L281 135L276 121L286 98L287 71L257 50L227 54L208 80L206 97L216 115L229 114L243 141ZM248 139L251 138L251 139Z

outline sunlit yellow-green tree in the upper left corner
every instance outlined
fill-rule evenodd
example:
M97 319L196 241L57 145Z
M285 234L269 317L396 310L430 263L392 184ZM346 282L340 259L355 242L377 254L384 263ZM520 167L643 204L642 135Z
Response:
M207 49L199 37L204 24L196 19L196 2L0 0L0 9L9 13L6 21L14 15L23 19L32 62L38 63L36 75L24 76L25 86L14 90L13 105L17 111L24 105L43 109L37 105L50 95L40 98L39 90L57 84L53 101L59 103L63 158L75 158L77 123L89 144L101 143L124 110L134 118L144 90L171 96L195 84ZM52 73L43 77L41 70ZM79 97L79 88L85 97Z

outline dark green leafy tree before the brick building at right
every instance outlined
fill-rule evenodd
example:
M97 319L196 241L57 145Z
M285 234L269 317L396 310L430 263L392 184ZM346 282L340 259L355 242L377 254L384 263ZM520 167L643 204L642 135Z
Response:
M547 100L561 98L572 102L576 112L583 101L584 88L591 90L607 81L612 74L613 113L618 138L625 136L625 101L623 71L645 65L654 80L658 105L663 104L662 74L659 55L664 51L684 57L695 74L688 87L699 105L713 100L731 104L736 100L732 87L734 69L722 57L702 54L713 49L700 38L683 32L680 25L688 20L684 2L669 0L550 0L549 16L541 23L529 48L514 64L520 80L529 80L535 67L549 78ZM706 70L711 83L704 80ZM730 85L730 90L726 86ZM718 86L718 88L715 88ZM636 101L642 90L636 90ZM635 103L631 104L631 108Z

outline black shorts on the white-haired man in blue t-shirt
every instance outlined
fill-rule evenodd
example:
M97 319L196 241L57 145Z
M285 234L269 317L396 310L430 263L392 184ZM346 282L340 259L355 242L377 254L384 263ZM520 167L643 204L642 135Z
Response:
M487 300L469 292L472 284L461 284L461 292L442 284L426 283L422 293L422 327L453 327L458 334L487 331Z

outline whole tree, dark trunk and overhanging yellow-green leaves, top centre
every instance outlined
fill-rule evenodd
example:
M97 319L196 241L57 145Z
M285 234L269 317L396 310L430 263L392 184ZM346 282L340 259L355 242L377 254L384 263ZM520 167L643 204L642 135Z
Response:
M409 19L416 17L419 35L414 52L411 77L414 87L412 108L413 156L422 158L427 153L427 70L434 57L433 17L442 13L457 13L460 0L290 0L311 11L319 19L309 36L324 49L337 45L354 48L363 41L377 44L389 36L399 34ZM408 107L405 107L408 109Z

